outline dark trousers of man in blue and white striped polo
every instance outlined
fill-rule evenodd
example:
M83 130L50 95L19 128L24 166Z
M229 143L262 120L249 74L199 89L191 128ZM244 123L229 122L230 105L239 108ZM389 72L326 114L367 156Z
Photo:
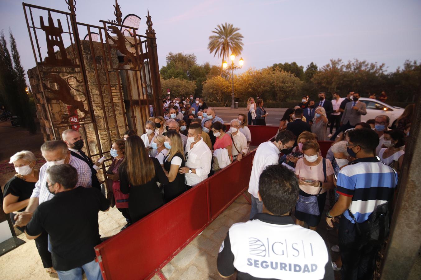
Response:
M342 259L341 280L373 279L381 242L362 241L357 236L355 224L344 216L339 221L338 239Z

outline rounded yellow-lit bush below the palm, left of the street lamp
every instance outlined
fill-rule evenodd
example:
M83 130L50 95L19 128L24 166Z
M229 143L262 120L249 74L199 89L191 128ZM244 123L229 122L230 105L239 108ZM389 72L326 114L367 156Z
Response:
M206 101L226 102L231 99L231 83L221 76L212 77L203 84L203 97Z

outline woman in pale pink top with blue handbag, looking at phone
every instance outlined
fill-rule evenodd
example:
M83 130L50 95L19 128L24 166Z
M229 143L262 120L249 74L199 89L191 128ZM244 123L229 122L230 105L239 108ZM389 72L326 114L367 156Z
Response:
M314 140L306 141L302 150L304 157L297 161L295 174L300 192L295 208L296 224L316 230L325 208L326 191L333 188L332 164L319 155L319 144Z

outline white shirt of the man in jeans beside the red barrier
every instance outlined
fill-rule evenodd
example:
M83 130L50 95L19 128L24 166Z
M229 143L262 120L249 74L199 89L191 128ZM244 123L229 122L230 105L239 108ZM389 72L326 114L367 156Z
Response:
M269 165L279 163L280 150L271 141L263 142L256 150L251 168L250 182L248 183L248 192L258 198L259 178L264 168Z

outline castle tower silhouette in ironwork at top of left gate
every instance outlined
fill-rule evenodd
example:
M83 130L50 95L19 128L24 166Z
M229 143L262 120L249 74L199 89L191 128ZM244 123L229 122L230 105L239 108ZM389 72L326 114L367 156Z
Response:
M63 38L61 34L63 33L63 27L61 27L60 19L57 19L58 27L54 26L53 18L51 17L50 11L48 11L48 25L44 24L44 19L40 16L40 26L41 29L45 32L45 38L47 40L47 53L48 56L45 58L44 62L40 64L49 64L53 66L62 66L62 67L75 67L76 65L67 57L66 49L64 48ZM54 47L59 47L61 59L56 58Z

